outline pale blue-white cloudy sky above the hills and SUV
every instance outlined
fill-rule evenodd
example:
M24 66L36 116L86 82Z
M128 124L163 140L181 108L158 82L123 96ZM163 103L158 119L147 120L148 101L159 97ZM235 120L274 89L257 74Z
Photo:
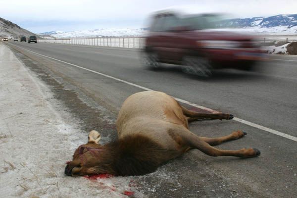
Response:
M0 0L0 17L34 33L142 28L152 11L180 8L234 17L297 14L297 0Z

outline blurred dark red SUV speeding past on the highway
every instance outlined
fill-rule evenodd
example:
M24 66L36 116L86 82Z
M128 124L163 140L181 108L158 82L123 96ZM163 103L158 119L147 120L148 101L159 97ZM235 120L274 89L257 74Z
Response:
M204 77L217 68L250 70L263 51L251 35L218 29L221 20L218 14L155 14L143 63L154 69L160 62L179 64L185 72Z

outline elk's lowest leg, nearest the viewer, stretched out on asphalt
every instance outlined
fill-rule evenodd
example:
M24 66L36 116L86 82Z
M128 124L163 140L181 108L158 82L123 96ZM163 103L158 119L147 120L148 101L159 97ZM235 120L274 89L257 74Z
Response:
M260 155L260 151L256 148L242 148L240 150L222 150L214 148L185 127L176 127L170 130L169 135L179 144L186 147L197 148L210 156L236 156L246 158Z

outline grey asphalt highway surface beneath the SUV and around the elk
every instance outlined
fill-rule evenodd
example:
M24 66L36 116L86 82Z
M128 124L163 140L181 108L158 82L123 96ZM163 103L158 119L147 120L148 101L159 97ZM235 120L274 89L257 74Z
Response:
M297 137L295 56L273 55L268 57L268 61L260 63L257 71L220 70L215 72L213 78L201 79L182 73L178 66L164 65L159 71L145 69L139 62L139 51L135 49L19 42L9 42L7 45L35 61L44 63L56 74L105 104L113 114L119 110L124 99L143 90L24 49L162 91L211 109L230 112L249 122ZM258 148L261 150L259 157L239 160L233 157L209 157L199 151L191 151L186 154L185 160L194 166L206 164L207 171L211 170L223 181L236 185L236 192L230 196L247 193L247 197L295 197L297 142L234 120L199 121L191 125L194 133L209 137L227 135L237 129L245 130L248 135L219 147ZM175 168L183 169L183 162L180 159L179 162ZM193 185L193 168L195 169L192 167L191 170L181 170L184 177L179 177L178 181ZM214 185L214 191L219 191L218 188L222 186L220 185ZM186 189L184 191L184 195L190 195ZM193 194L192 191L191 193ZM226 197L225 194L224 196Z

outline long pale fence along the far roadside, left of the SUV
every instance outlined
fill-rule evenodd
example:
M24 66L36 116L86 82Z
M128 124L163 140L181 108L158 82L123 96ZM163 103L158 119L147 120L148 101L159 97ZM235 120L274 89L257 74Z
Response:
M88 37L88 38L56 38L40 39L43 43L106 46L117 48L143 48L145 37Z

